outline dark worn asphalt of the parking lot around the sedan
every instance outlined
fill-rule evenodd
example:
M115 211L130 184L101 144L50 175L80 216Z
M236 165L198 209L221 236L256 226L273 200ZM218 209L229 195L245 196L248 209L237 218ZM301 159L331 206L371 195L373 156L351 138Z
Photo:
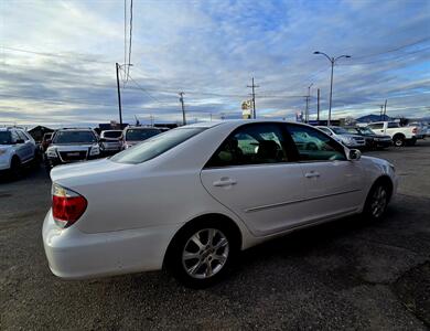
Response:
M49 178L40 169L0 183L0 329L428 330L430 140L367 154L400 175L386 220L346 218L251 248L201 291L163 273L55 278L41 241Z

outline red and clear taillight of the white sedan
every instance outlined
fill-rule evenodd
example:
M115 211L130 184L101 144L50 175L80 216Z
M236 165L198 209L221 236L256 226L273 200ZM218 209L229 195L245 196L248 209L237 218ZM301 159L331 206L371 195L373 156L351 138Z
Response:
M60 227L68 227L84 214L87 200L80 194L60 186L52 185L52 215Z

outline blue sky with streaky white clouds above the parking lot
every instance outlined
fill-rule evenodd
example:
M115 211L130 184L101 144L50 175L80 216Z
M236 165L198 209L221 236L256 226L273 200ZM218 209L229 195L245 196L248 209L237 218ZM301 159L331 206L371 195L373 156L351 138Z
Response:
M118 119L115 63L128 62L131 0L0 1L0 124ZM258 117L293 119L311 87L333 117L430 116L430 1L133 0L123 121L240 117L251 77ZM126 50L126 61L125 61ZM126 68L126 66L122 66Z

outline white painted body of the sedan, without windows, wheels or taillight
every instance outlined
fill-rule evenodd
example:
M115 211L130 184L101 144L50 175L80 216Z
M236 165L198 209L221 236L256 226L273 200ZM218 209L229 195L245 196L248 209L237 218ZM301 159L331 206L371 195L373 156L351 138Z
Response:
M43 243L51 270L68 279L157 270L178 231L198 216L228 217L246 249L297 228L359 213L381 175L396 190L393 166L367 157L206 169L229 134L250 122L273 121L179 128L207 129L138 164L103 159L54 168L53 183L82 194L88 205L67 228L58 227L52 211L47 213Z

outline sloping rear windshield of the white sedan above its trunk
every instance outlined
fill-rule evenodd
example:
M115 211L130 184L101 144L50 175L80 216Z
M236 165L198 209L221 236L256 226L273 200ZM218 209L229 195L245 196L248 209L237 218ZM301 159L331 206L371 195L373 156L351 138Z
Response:
M181 128L166 131L148 139L135 147L114 156L110 160L119 163L141 163L151 160L173 147L184 142L191 137L198 135L204 128Z

